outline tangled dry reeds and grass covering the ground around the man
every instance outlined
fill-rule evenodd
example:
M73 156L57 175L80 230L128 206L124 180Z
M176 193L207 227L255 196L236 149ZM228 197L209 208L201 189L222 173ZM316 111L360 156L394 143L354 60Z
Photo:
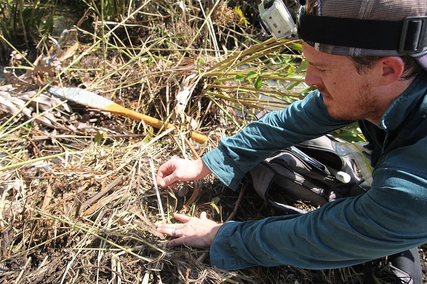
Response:
M2 25L10 57L0 86L0 281L361 283L363 266L228 272L209 265L207 250L164 246L160 206L168 222L174 212L217 221L280 214L247 184L232 192L214 177L161 188L159 201L153 173L173 156L199 158L260 110L303 97L306 64L297 40L262 37L246 2L118 2L74 1L87 10L57 35L32 33L36 48L11 44L22 30ZM2 24L19 15L13 7ZM39 18L48 26L55 15ZM57 97L50 86L77 95ZM161 125L82 104L87 92ZM340 135L362 138L354 128ZM374 263L379 283L389 282L384 263Z

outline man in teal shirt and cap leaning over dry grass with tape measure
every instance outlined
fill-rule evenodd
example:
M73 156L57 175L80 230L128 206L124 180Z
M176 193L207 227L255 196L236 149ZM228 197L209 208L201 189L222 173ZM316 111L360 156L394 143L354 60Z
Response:
M307 214L245 222L175 214L181 224L157 227L176 237L169 245L210 247L212 265L226 270L328 269L408 250L406 259L418 265L416 247L427 242L426 15L425 0L308 2L298 33L306 83L317 90L221 139L201 159L171 159L157 174L158 185L170 186L213 173L236 189L272 152L358 121L374 148L367 193ZM422 282L419 268L408 273Z

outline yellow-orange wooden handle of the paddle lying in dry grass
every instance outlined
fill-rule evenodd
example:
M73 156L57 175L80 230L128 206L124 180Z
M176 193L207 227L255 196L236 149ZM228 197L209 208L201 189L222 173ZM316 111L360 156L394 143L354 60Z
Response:
M161 121L160 119L127 109L125 107L122 107L116 103L112 103L111 105L108 105L106 107L103 108L103 110L111 112L111 113L115 113L115 114L119 114L119 115L124 115L126 117L135 119L135 120L144 120L144 122L154 128L162 128L165 127L166 129L175 127L173 124L171 123L164 123L163 121ZM207 140L208 137L206 137L203 134L191 131L190 132L191 137L200 144L204 144Z

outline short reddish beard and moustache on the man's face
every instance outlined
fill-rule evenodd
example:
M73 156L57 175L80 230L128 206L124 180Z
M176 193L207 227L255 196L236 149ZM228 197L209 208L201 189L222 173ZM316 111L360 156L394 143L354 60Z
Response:
M325 105L329 115L335 119L359 120L382 115L378 98L372 94L368 83L364 83L363 86L361 86L357 97L348 100L335 100L323 86L319 86L318 91L323 94L323 96L326 95L331 98L330 102L325 103Z

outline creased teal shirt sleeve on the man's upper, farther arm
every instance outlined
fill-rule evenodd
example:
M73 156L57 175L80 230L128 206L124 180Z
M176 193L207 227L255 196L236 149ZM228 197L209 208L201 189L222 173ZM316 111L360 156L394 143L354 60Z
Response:
M273 152L314 139L351 124L332 118L316 90L286 109L250 123L202 157L223 184L236 190L243 176Z

